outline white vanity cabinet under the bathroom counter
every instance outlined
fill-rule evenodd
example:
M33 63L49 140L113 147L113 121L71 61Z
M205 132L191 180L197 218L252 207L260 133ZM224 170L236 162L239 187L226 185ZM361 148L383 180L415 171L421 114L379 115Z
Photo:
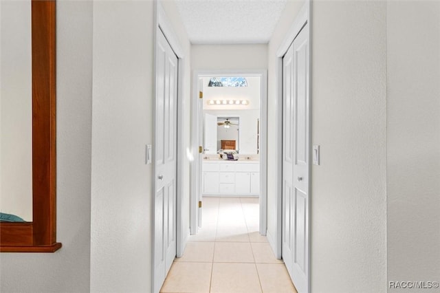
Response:
M258 196L260 163L255 161L203 161L203 195Z

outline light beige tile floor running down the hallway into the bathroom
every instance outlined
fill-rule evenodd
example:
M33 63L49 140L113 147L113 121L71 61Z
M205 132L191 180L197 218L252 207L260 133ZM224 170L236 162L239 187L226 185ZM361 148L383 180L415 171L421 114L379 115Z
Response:
M202 227L175 259L161 292L296 292L259 233L258 198L204 197Z

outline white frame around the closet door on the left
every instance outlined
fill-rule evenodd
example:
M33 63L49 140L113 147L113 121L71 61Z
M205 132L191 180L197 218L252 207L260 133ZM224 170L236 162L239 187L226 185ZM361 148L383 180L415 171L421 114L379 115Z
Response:
M157 44L157 30L162 30L164 36L166 37L166 40L170 44L171 48L173 49L174 53L176 54L178 58L178 66L179 66L179 72L178 72L178 80L177 80L177 203L176 203L176 220L177 220L177 229L176 229L176 245L177 245L177 257L181 257L181 255L184 252L185 244L186 244L186 238L188 236L188 228L182 226L184 223L184 217L187 217L188 214L184 215L184 210L182 210L182 202L183 202L183 182L182 178L184 177L184 164L182 162L183 155L186 152L184 150L184 137L186 135L185 129L184 129L184 73L185 73L185 58L184 50L182 49L179 39L177 39L177 35L173 31L172 26L170 25L170 21L168 21L164 8L162 8L162 4L160 1L154 1L154 10L155 10L155 26L154 26L154 68L153 68L153 74L154 74L154 89L153 89L153 122L155 121L156 117L156 90L157 90L157 70L156 70L156 64L157 64L157 52L156 52L156 44ZM153 138L155 138L155 127L153 127ZM155 147L153 145L153 176L155 174ZM153 177L152 180L152 195L153 198L151 203L151 232L152 232L152 241L151 241L151 290L154 292L155 287L155 280L154 280L154 255L155 255L155 232L154 232L154 221L155 221L155 204L154 204L154 195L155 195L155 178Z

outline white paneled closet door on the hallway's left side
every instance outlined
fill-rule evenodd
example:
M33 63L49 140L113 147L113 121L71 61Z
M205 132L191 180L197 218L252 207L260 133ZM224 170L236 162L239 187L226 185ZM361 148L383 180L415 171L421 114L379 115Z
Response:
M155 116L155 292L176 256L177 56L157 32Z

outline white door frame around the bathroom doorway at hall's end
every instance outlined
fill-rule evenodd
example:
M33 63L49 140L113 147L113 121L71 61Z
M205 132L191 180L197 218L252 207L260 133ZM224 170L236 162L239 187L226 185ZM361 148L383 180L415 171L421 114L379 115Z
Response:
M192 74L192 98L191 98L191 129L192 150L194 161L191 164L190 182L190 233L198 230L200 182L201 182L201 155L199 146L203 146L201 140L201 127L199 121L199 78L203 76L261 76L260 98L260 233L267 232L267 70L266 69L203 69L195 70Z

